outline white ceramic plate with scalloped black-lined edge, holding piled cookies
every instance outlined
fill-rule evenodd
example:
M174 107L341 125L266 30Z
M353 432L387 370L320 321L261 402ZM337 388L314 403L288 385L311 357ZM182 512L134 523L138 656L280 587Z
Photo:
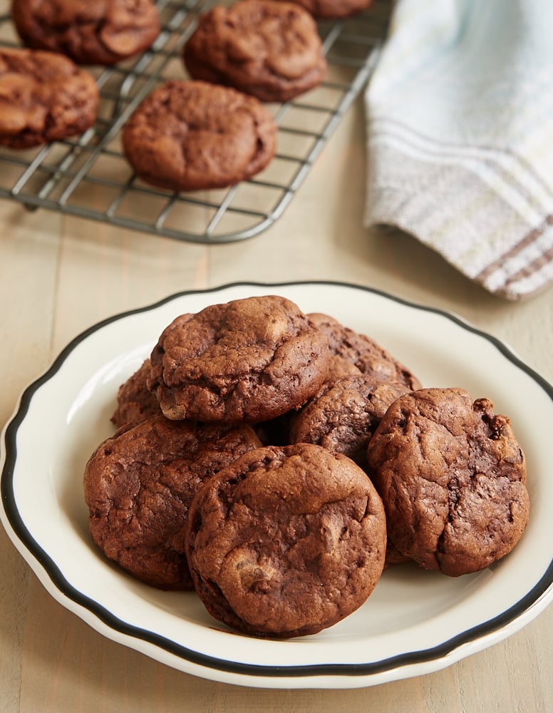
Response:
M527 456L531 518L510 555L462 578L414 565L386 571L360 610L311 637L237 635L194 593L149 588L91 543L82 474L113 432L118 386L183 312L254 294L282 294L370 334L425 386L462 386L507 414ZM232 284L184 292L88 329L24 391L2 438L1 518L62 605L96 630L198 676L260 687L362 687L438 670L512 634L553 597L553 387L504 344L458 317L328 282Z

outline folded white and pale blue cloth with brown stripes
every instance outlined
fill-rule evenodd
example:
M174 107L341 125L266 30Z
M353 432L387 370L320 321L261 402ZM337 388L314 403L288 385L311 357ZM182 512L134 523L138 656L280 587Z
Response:
M507 299L553 280L552 32L552 0L398 0L365 94L366 225Z

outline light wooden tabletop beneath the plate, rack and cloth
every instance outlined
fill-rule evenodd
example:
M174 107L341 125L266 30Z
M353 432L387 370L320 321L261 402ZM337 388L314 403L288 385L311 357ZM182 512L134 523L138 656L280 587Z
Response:
M0 202L0 421L86 327L182 289L237 280L341 280L449 309L553 381L552 290L510 304L412 237L366 230L365 168L357 101L284 215L244 242L192 245ZM105 639L46 593L4 530L0 548L6 713L553 710L553 607L504 642L433 674L364 689L249 689L177 672Z

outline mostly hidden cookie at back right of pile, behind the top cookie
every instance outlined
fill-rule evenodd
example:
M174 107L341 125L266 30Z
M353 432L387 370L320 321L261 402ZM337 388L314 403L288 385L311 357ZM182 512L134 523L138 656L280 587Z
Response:
M358 334L344 327L328 314L312 313L311 322L321 329L329 340L334 364L331 374L346 373L355 367L361 374L371 374L381 381L398 381L409 389L419 389L420 381L406 366L389 354L366 334Z

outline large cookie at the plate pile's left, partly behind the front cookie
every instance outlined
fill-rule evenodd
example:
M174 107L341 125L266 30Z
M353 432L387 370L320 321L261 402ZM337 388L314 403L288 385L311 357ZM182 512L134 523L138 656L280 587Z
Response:
M259 446L248 426L202 426L155 416L100 444L84 473L96 545L131 575L192 589L185 556L190 501L206 478Z

